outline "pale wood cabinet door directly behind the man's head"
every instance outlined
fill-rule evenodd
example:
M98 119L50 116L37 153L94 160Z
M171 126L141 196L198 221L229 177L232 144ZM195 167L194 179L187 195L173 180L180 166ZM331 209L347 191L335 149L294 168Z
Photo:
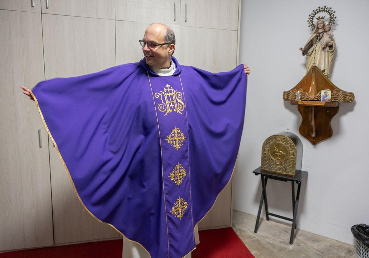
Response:
M148 24L132 21L115 21L115 36L117 44L117 65L138 62L144 58L139 40L144 37ZM176 35L176 48L174 55L180 62L180 26L171 25Z

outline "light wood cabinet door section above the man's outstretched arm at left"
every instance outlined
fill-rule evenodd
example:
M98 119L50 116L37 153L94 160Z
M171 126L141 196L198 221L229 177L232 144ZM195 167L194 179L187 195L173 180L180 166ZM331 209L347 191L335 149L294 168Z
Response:
M114 21L42 14L45 77L70 77L115 66Z

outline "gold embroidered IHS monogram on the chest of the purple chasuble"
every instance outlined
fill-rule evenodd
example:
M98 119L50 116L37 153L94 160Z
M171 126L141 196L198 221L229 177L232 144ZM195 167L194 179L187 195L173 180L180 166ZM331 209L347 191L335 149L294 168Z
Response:
M174 90L170 85L166 84L164 89L155 93L154 96L155 98L159 98L160 96L162 104L158 104L158 109L161 112L165 112L165 116L172 111L182 115L181 111L184 110L184 103L182 101L182 93L180 91Z

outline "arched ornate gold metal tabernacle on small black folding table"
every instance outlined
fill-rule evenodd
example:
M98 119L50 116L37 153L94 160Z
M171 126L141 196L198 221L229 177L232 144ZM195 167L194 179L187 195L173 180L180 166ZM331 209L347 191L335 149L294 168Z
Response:
M302 150L301 140L293 133L269 136L262 147L261 170L294 177L301 170Z

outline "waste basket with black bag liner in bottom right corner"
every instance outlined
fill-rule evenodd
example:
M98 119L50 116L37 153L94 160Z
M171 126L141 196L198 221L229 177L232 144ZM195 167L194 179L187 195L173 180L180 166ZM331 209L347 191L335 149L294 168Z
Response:
M358 224L351 227L356 238L355 253L358 258L369 258L369 226Z

